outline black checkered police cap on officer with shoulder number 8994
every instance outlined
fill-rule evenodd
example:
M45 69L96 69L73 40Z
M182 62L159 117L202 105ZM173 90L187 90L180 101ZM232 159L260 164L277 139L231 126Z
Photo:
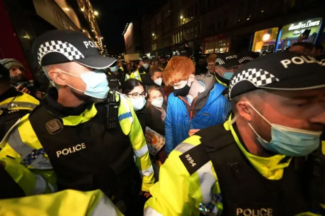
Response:
M325 87L323 68L313 57L296 52L271 53L239 68L229 84L229 96L256 89L307 90Z

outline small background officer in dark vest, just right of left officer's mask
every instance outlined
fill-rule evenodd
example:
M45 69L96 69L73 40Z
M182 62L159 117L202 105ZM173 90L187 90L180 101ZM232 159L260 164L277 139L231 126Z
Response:
M121 88L125 75L123 67L119 67L117 61L108 68L107 79L110 89L118 91Z

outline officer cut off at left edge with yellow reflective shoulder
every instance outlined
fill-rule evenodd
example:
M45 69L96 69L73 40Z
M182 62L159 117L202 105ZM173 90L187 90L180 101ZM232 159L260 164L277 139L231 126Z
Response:
M0 64L0 139L18 119L30 113L39 104L34 97L11 86L9 70Z

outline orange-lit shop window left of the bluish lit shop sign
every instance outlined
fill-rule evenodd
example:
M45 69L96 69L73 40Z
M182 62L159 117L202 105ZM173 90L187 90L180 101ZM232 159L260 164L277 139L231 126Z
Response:
M253 41L253 52L272 52L275 48L279 28L264 29L256 31Z

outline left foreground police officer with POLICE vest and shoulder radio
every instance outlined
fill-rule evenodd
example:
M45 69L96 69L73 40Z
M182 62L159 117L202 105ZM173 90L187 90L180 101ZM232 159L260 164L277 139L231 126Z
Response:
M109 91L103 69L116 60L73 30L44 33L33 52L55 88L4 138L0 160L27 169L34 181L22 185L26 195L101 189L126 215L141 214L139 193L153 184L153 168L131 102Z

